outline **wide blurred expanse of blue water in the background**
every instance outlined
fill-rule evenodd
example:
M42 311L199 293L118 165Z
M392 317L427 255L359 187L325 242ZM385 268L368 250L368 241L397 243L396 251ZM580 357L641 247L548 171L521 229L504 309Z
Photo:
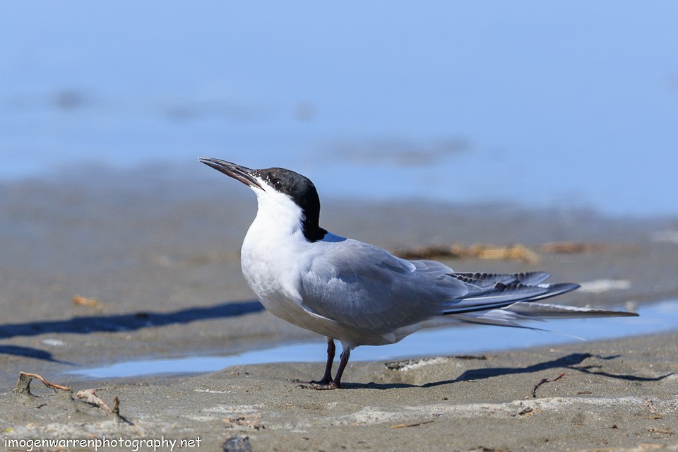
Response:
M0 180L155 161L215 177L207 156L297 169L323 196L675 214L676 17L670 1L4 2Z

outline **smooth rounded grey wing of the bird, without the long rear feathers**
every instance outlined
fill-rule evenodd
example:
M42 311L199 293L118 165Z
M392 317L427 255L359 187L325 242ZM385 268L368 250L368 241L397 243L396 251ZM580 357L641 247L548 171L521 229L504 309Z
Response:
M389 333L443 314L446 300L468 294L434 261L405 261L346 239L323 244L302 272L304 307L357 331Z

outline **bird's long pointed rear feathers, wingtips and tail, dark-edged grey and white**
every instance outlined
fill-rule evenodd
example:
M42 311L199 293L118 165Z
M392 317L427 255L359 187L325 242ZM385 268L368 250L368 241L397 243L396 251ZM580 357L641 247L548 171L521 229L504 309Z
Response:
M469 292L465 297L448 300L443 314L465 323L525 328L520 321L638 315L627 311L542 303L543 299L580 287L573 283L543 283L549 278L548 273L451 273L451 276L465 283Z

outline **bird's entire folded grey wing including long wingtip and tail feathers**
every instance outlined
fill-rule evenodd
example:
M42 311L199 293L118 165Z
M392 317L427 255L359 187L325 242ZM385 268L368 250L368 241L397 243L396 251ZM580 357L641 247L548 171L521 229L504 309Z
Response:
M549 273L459 273L351 239L324 243L302 270L305 309L366 333L391 333L441 314L504 326L548 317L632 315L535 303L579 287L544 283Z

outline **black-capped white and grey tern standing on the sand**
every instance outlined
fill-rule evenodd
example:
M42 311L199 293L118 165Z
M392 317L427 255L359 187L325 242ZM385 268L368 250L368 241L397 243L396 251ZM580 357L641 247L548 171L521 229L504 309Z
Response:
M452 323L523 326L548 318L635 316L626 311L547 304L576 283L545 283L549 273L457 272L438 261L406 260L320 226L320 198L290 169L250 169L215 158L205 165L249 186L257 213L242 242L246 283L271 314L326 337L316 388L341 387L351 351L397 343L422 328ZM332 376L338 340L342 346Z

